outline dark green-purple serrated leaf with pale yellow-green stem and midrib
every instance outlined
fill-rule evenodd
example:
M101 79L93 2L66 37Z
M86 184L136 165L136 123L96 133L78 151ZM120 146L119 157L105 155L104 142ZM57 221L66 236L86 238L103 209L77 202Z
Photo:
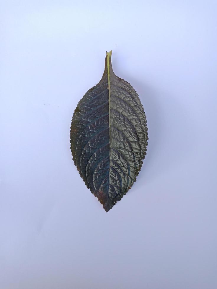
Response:
M79 101L70 132L77 170L106 212L136 181L148 144L141 101L114 74L111 55L106 52L102 79Z

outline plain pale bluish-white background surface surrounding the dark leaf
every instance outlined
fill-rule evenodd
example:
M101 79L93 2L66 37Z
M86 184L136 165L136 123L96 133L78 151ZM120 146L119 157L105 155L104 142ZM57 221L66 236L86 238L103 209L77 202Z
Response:
M1 289L217 288L216 8L1 1ZM111 49L149 145L106 213L74 166L69 130Z

